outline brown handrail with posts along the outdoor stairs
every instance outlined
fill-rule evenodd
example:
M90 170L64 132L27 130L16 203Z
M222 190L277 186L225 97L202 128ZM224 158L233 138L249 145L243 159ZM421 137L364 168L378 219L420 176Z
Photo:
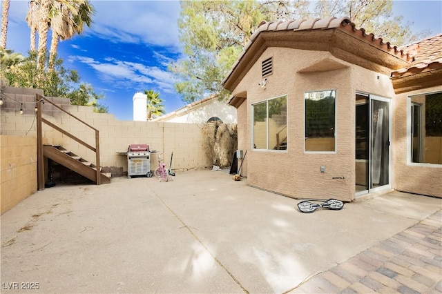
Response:
M58 126L55 126L55 124L52 124L47 119L44 119L41 117L41 103L44 101L47 101L49 104L52 104L52 106L55 106L55 108L58 108L59 110L66 112L66 114L70 115L70 117L73 117L74 119L77 119L77 121L80 121L85 126L88 126L89 128L93 129L95 131L95 148L93 146L90 146L85 141L75 137L74 135L66 132L66 130L63 130L62 128L59 128ZM86 148L89 148L90 150L93 150L95 152L95 166L96 166L96 173L97 173L97 185L102 184L101 177L100 177L100 164L99 164L99 130L97 128L94 128L93 126L90 126L90 124L86 123L86 121L82 121L72 113L64 110L63 108L57 106L52 101L46 99L46 97L41 96L39 94L35 94L35 108L37 109L37 178L38 178L38 189L44 190L44 155L43 155L43 128L41 123L45 123L48 126L54 128L55 130L58 130L60 133L70 137L71 139L74 139L79 144L85 146Z

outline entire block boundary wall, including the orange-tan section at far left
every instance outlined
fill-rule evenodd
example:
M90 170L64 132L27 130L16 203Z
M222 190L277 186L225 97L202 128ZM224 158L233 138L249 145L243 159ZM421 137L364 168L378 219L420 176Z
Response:
M1 213L37 190L36 94L41 90L1 88ZM169 168L175 171L211 168L202 149L202 132L198 124L154 121L120 121L114 115L95 113L88 106L71 106L68 99L47 97L75 117L99 130L100 163L104 171L127 172L127 157L120 155L130 144L148 144L162 153ZM20 114L23 108L23 115ZM49 103L43 105L43 117L75 137L95 147L95 132ZM77 141L43 124L44 144L61 145L78 156L95 163L95 153ZM151 156L151 169L157 167L157 154ZM114 175L115 176L115 175Z

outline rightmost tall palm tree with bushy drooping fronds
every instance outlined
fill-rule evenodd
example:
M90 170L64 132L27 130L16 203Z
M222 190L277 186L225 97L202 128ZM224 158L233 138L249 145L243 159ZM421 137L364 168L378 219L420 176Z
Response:
M53 68L57 57L59 40L81 34L84 26L92 24L94 9L87 0L55 1L51 8L52 40L50 43L49 68Z

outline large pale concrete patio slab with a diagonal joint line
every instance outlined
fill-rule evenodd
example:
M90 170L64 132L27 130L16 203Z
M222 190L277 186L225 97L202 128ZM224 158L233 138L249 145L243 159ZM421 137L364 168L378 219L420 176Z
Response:
M298 202L225 171L57 184L1 216L1 292L296 292L442 209L398 192L311 214Z

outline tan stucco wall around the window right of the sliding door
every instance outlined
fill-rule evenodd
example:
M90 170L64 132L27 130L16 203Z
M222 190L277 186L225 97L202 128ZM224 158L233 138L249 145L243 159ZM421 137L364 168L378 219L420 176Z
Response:
M442 86L416 90L396 96L393 121L394 133L394 188L404 192L442 197L442 166L410 164L410 104L408 97L442 91Z

